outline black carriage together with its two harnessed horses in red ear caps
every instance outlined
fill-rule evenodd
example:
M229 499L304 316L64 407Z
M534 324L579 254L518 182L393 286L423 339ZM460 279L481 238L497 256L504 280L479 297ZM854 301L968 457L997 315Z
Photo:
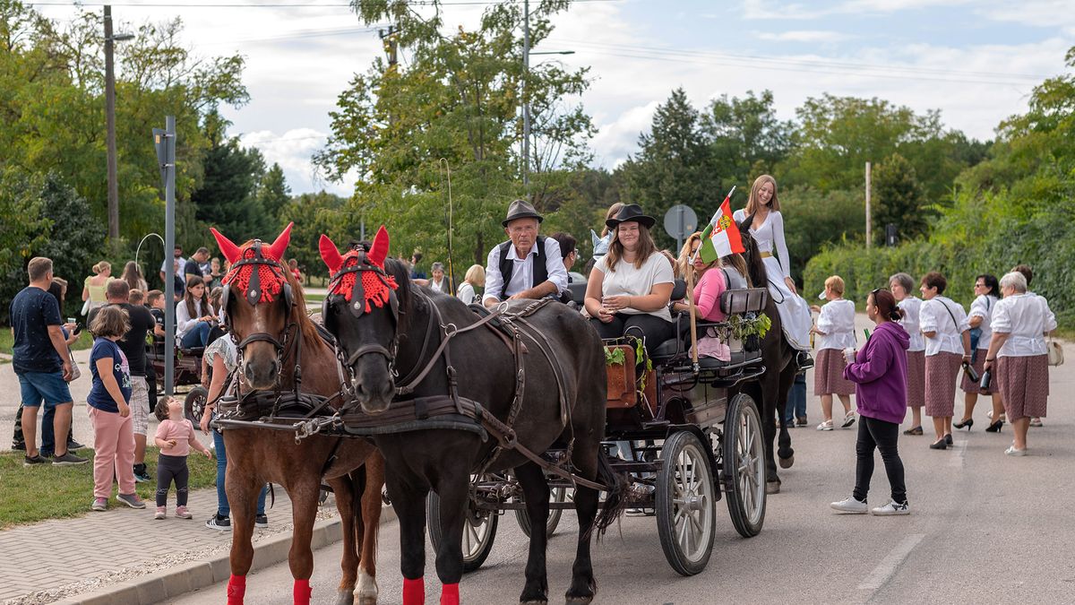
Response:
M649 343L647 358L633 341L602 342L577 311L547 299L503 304L483 316L411 284L407 267L387 258L382 228L369 252L341 254L322 236L332 275L326 339L280 265L287 230L272 245L238 247L216 235L232 262L223 306L241 355L242 380L229 383L245 384L221 399L215 421L228 441L229 594L238 601L254 500L266 481L281 483L303 511L291 552L297 603L309 602L309 531L321 478L336 492L345 525L341 603L352 602L352 589L359 602L376 601L370 532L382 486L399 518L407 605L424 600L427 526L442 603L458 602L462 573L488 555L505 510L518 511L531 538L521 602L547 601L544 555L533 558L558 520L550 509L578 512L572 603L597 591L592 532L629 508L655 511L669 563L684 575L710 559L721 497L743 536L761 530L777 404L776 383L761 382L774 353L773 366L788 357L769 338L728 361L698 360L682 324L676 338ZM760 270L754 283L765 283ZM721 297L731 316L771 316L772 305L761 289ZM751 394L764 399L765 413Z

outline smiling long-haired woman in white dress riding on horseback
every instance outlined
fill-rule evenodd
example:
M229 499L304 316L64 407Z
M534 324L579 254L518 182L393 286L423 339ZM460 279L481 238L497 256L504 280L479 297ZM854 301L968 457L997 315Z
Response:
M796 282L791 279L791 258L784 241L784 216L780 215L780 201L776 196L776 180L769 174L762 174L754 181L746 209L736 210L733 219L742 223L750 215L754 215L754 222L749 225L750 235L758 242L758 250L765 263L769 292L780 314L784 335L796 349L808 351L809 328L813 323L809 307L799 296ZM773 256L774 251L776 256Z

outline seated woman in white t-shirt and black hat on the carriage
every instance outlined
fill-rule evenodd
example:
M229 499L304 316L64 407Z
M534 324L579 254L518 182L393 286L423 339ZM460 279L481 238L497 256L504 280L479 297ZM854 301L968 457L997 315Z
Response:
M675 335L669 313L672 263L649 235L654 223L636 203L608 219L612 244L586 285L586 311L601 338L639 336L647 351Z

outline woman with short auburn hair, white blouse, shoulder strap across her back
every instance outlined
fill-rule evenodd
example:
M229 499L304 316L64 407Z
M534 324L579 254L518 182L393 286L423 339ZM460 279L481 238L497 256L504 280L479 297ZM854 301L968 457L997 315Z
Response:
M942 296L948 280L936 271L926 273L918 321L926 337L926 414L933 417L937 440L931 450L951 444L951 417L956 409L956 379L959 366L971 361L971 326L963 307Z

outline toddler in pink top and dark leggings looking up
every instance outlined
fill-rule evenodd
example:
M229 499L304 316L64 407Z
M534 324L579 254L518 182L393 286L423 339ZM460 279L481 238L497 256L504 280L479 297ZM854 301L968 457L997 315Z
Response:
M187 481L190 470L187 469L187 454L194 448L205 458L213 458L213 452L195 437L195 427L183 417L183 402L164 397L157 403L154 410L160 425L154 442L160 448L157 461L157 513L154 519L163 519L168 511L168 489L175 481L175 516L180 519L190 519L187 511Z

